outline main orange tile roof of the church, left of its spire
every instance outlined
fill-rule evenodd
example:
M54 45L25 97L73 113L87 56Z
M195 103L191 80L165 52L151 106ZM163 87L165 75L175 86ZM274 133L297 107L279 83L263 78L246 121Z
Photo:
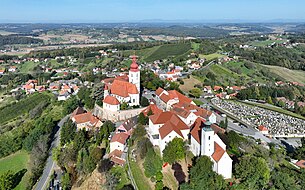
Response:
M128 97L129 94L139 93L135 84L121 80L113 81L110 87L110 92L121 97Z

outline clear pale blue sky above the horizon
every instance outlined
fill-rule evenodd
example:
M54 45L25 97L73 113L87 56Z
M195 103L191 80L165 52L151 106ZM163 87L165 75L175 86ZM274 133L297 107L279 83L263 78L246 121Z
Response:
M305 20L304 0L0 0L0 22Z

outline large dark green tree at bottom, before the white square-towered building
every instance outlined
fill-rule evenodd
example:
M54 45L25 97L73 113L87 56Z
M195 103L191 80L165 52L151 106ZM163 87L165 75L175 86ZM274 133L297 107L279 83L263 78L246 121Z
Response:
M221 190L225 189L225 181L222 176L212 170L213 162L207 156L196 159L194 166L190 169L190 182L181 185L182 190ZM204 172L203 172L204 171Z

